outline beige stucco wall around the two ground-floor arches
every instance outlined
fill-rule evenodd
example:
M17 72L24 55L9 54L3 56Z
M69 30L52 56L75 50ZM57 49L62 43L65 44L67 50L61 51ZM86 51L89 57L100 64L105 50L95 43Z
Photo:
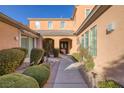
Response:
M70 54L77 52L77 37L76 36L43 36L43 38L53 39L55 48L59 48L60 39L69 38L72 40L72 48L70 49Z

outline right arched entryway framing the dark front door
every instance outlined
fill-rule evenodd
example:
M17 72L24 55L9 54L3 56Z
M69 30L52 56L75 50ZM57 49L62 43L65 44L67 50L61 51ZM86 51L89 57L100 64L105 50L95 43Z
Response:
M72 48L72 40L70 38L62 38L59 41L60 53L69 54Z

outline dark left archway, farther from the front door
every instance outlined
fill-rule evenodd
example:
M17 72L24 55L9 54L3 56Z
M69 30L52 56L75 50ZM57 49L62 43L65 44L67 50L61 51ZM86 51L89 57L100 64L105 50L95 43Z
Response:
M51 38L44 38L43 48L48 54L52 53L54 49L54 40Z

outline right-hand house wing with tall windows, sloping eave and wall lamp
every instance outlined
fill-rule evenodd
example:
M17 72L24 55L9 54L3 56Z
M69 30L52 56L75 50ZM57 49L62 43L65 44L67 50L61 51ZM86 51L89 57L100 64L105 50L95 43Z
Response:
M94 72L124 85L124 6L95 6L75 33L94 58ZM100 77L99 77L100 78Z

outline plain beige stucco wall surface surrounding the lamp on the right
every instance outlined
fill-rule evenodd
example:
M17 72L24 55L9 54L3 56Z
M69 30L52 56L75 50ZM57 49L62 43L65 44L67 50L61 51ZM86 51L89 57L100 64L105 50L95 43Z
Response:
M109 23L115 23L115 30L106 34ZM112 6L94 21L79 37L97 25L97 56L94 70L104 73L124 85L124 6Z

